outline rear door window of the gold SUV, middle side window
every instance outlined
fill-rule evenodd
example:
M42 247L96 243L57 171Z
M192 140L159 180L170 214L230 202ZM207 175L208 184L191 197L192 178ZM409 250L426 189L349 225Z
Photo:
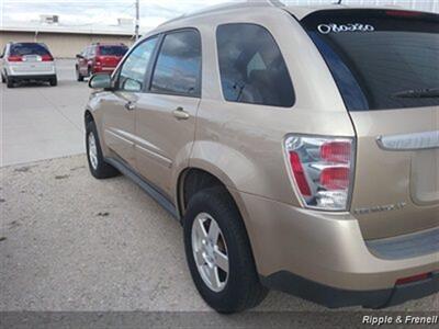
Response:
M151 82L151 91L200 97L201 39L196 31L165 36Z

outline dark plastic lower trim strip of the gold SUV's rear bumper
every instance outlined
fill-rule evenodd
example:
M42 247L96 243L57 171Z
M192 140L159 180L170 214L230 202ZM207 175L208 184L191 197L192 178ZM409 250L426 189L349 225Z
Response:
M330 308L357 305L365 308L383 308L439 292L439 272L432 273L430 277L419 282L375 291L340 290L284 271L261 277L261 282L270 288L290 293Z

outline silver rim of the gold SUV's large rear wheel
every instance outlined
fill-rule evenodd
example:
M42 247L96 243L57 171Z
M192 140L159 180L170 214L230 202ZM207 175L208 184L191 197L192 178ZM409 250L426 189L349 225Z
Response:
M192 251L205 285L214 292L224 290L229 272L227 246L218 224L206 213L193 220Z

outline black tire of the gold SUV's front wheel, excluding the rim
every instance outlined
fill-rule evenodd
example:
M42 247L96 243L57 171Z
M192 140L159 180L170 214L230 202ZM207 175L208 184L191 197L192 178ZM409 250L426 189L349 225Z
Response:
M89 151L89 135L93 134L97 147L97 159L98 163L95 167L92 166L90 160ZM97 179L112 178L119 174L117 169L104 161L102 156L101 144L99 141L98 129L93 121L90 121L86 125L86 149L87 149L87 161L89 162L89 169L91 174Z

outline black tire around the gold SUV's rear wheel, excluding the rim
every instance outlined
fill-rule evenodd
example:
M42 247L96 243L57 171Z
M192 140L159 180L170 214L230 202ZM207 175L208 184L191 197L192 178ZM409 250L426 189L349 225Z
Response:
M206 213L218 224L228 257L228 279L219 292L211 290L198 270L192 250L192 224ZM237 313L260 304L268 290L259 282L247 231L239 211L224 188L210 188L191 197L183 218L184 249L192 280L203 299L218 313Z

